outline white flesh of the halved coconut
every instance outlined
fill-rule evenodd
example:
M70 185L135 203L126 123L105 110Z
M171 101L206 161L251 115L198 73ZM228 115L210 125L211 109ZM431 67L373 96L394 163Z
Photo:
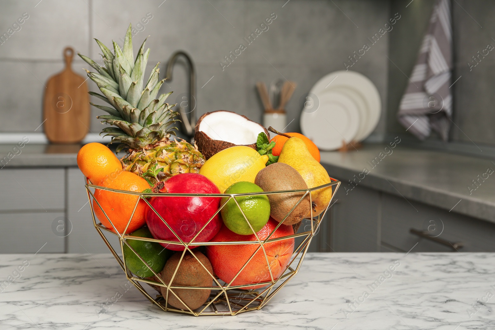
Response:
M263 126L229 111L215 111L204 116L198 131L213 140L240 145L256 143L258 134L265 132Z

